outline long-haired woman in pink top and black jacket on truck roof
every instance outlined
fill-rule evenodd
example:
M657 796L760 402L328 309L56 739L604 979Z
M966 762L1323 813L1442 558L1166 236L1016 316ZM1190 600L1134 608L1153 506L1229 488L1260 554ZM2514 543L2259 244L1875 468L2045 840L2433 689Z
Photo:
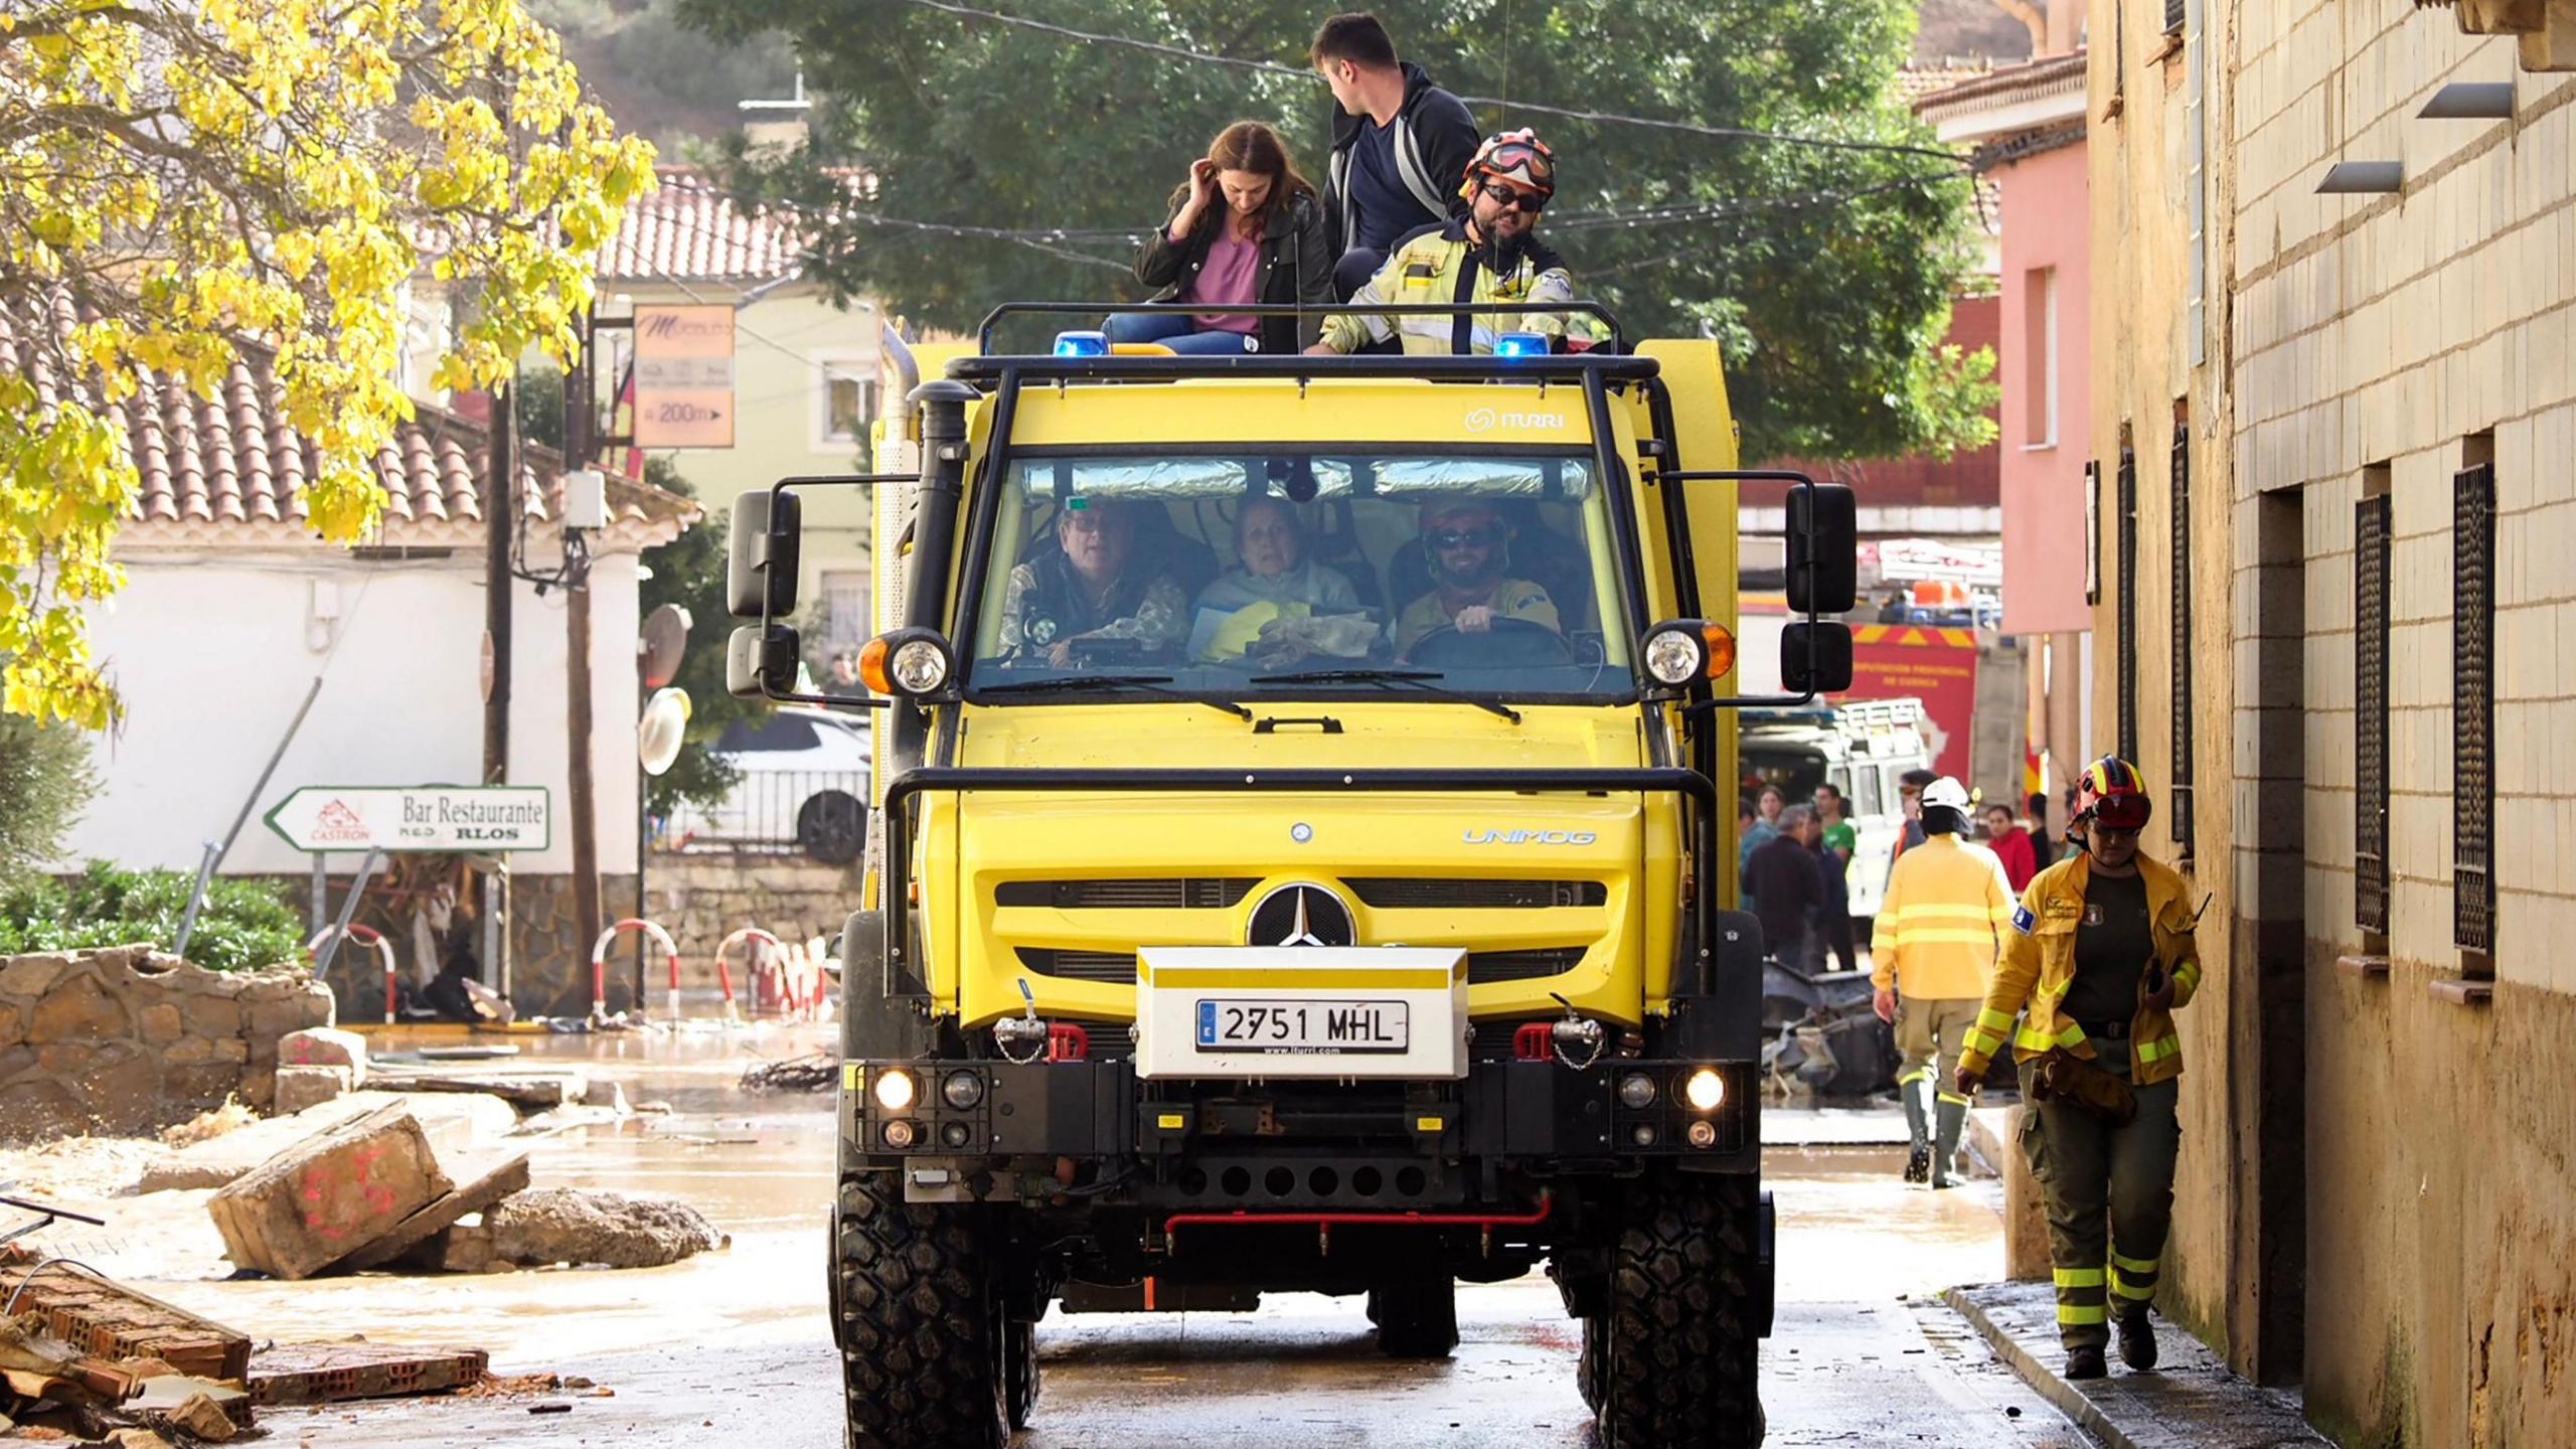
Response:
M1236 121L1172 191L1172 211L1136 255L1136 281L1154 302L1198 302L1200 312L1118 312L1110 343L1162 343L1175 353L1296 353L1324 335L1324 312L1252 317L1226 304L1332 297L1332 240L1324 201L1288 160L1278 131Z

